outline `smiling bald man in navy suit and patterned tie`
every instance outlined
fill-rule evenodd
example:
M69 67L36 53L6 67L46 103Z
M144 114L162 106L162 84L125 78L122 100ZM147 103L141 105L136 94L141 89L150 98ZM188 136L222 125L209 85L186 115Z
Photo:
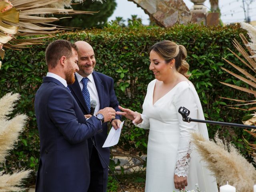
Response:
M76 80L74 84L69 87L84 115L86 115L86 117L91 116L90 106L87 106L86 100L95 100L97 102L95 112L106 107L111 107L114 108L114 110L119 111L118 101L114 91L113 78L94 71L96 60L92 46L84 41L78 41L75 44L79 50L79 71L75 74ZM86 87L88 88L87 93L85 93ZM89 99L86 98L88 95L90 96ZM116 118L112 120L111 125L117 129L119 128L120 123L120 116L116 116ZM109 148L102 148L108 135L107 123L102 124L102 128L103 132L88 139L91 170L88 192L106 192L107 189L110 150Z

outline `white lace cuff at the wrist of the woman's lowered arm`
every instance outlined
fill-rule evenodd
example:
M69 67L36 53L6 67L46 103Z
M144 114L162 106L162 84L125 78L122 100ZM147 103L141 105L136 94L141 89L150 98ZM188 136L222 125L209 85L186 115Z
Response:
M191 159L191 143L189 143L188 152L185 155L178 154L178 160L176 162L174 174L179 177L188 176L190 159Z

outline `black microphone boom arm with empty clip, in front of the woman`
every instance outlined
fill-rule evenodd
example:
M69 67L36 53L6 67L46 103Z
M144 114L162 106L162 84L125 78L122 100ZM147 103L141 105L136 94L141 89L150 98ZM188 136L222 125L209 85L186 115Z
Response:
M255 129L256 128L256 126L252 126L252 125L243 125L243 124L236 124L236 123L192 119L192 118L188 117L190 114L190 111L185 107L180 107L178 109L178 112L182 115L182 120L185 122L189 122L189 123L190 122L199 122L199 123L208 123L208 124L230 126L230 127L240 127L240 128L244 128L244 129Z

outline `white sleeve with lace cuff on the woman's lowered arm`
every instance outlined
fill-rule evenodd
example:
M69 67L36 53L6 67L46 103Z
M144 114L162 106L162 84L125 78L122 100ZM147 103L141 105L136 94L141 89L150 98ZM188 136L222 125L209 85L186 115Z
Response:
M197 105L196 100L192 94L194 87L192 85L186 86L180 90L175 98L175 108L178 118L178 126L180 129L179 135L179 144L178 144L178 153L176 157L176 167L174 174L177 176L186 177L189 171L189 164L191 159L191 143L190 143L190 134L193 131L196 131L195 122L184 122L182 116L178 113L178 109L182 106L190 110L190 117L197 118Z

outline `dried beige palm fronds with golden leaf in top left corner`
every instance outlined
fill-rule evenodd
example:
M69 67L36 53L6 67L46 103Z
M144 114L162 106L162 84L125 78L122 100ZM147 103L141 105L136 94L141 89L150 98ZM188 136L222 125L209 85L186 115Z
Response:
M101 0L97 0L102 2ZM84 0L73 0L82 3ZM5 48L25 48L30 44L40 44L38 38L17 39L17 36L54 34L68 29L54 24L54 21L71 14L93 14L90 11L76 11L71 8L72 0L0 0L0 56ZM66 7L66 8L65 8ZM56 18L54 14L65 15ZM70 17L70 16L68 16ZM46 38L46 37L44 37ZM8 44L6 44L9 42Z

